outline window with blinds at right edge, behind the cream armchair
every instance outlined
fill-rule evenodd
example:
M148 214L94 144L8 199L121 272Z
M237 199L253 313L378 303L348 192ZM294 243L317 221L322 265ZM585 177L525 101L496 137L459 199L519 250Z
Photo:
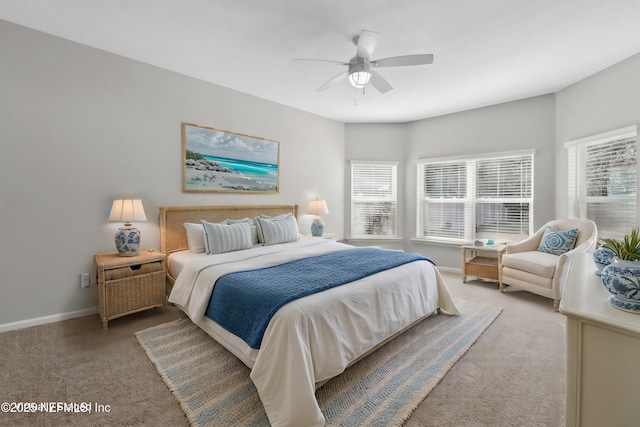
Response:
M569 141L569 215L593 220L598 234L622 237L637 224L637 126Z

